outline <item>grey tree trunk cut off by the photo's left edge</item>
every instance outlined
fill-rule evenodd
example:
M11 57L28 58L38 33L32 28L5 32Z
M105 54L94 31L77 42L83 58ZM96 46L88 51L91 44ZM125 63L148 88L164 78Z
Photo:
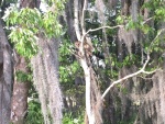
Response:
M12 56L0 20L0 124L9 124L12 93Z

